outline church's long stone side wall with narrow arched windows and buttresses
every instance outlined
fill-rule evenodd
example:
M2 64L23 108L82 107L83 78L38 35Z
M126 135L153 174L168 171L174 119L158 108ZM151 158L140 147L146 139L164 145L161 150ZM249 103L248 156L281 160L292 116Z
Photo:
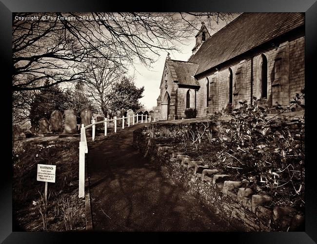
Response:
M288 40L281 40L278 46L258 48L248 55L240 56L219 67L218 71L210 71L197 77L200 89L197 93L197 117L206 117L208 113L226 109L229 102L229 68L233 74L233 104L239 101L251 102L253 96L261 96L261 62L262 55L267 59L267 97L261 99L262 104L284 107L293 101L296 93L305 85L305 40L304 32ZM251 88L251 63L253 63L253 86ZM207 106L207 78L209 80L209 101ZM216 84L218 82L218 84ZM215 96L217 95L218 96ZM218 99L218 101L217 101Z

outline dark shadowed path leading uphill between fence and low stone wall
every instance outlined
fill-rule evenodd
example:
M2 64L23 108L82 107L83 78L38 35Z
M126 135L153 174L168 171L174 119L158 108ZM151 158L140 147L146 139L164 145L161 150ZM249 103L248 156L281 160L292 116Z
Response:
M89 147L94 230L237 231L140 156L132 147L140 126Z

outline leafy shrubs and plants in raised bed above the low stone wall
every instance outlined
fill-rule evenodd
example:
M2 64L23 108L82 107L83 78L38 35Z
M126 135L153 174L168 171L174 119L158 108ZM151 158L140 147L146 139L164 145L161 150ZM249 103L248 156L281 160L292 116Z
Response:
M170 128L151 125L144 133L154 138L179 138L185 148L191 143L196 151L200 144L211 143L221 148L217 152L219 161L230 162L230 168L236 169L239 178L249 186L260 187L271 194L288 187L293 196L304 203L305 122L298 118L294 130L278 116L304 108L302 98L304 90L301 95L296 94L287 108L279 104L259 105L254 98L253 104L239 102L239 107L228 115L224 111L211 115L209 122ZM272 115L272 110L279 113ZM230 120L224 121L224 116L230 116Z

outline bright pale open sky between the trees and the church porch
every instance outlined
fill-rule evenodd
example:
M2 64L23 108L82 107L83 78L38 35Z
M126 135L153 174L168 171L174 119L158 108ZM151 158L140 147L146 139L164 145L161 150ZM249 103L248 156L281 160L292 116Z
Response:
M234 18L238 17L238 14ZM201 25L197 26L199 29ZM215 23L215 28L221 29L225 26L224 22ZM210 35L213 35L215 31L208 30ZM196 35L196 34L195 34ZM192 49L195 46L195 36L190 40L183 41L184 45L178 45L181 53L177 51L170 51L170 57L174 60L187 61L192 54ZM177 45L176 45L177 46ZM147 69L142 64L135 63L135 69L129 69L130 75L135 75L135 83L138 87L144 86L144 97L140 99L140 102L144 104L145 108L152 110L153 106L157 105L157 99L159 96L159 84L162 77L164 68L164 62L167 56L166 51L160 51L158 61L153 64L152 69Z

